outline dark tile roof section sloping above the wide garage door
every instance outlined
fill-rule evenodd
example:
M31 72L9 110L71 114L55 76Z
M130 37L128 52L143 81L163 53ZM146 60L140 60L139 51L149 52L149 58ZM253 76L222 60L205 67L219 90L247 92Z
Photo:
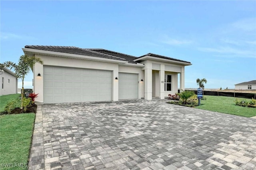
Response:
M78 47L26 45L25 48L40 49L40 50L54 51L54 52L60 52L60 53L78 54L78 55L88 55L88 56L92 56L92 57L100 57L100 58L106 58L106 59L115 59L115 60L126 61L126 59L121 58L121 57L116 57L116 56L112 56L112 55L108 55L108 54L104 54L104 53L99 53L97 51L90 51L88 49L78 48Z

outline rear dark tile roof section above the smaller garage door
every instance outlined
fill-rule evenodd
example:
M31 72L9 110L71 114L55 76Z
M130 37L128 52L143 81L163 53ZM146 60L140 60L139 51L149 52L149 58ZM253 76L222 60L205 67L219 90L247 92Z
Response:
M118 53L118 52L115 52L115 51L110 51L110 50L107 50L107 49L100 49L100 48L86 48L86 49L88 49L90 51L95 51L95 52L99 52L99 53L112 55L112 56L115 56L115 57L120 57L120 58L123 58L126 61L128 61L128 63L134 63L134 64L139 63L138 61L133 61L137 57L132 56L132 55L127 55L127 54L124 54L124 53Z

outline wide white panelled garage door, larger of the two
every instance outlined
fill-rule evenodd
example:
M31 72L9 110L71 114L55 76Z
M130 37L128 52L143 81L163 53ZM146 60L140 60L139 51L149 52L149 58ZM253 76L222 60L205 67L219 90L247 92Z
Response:
M44 103L112 100L112 71L44 66L43 77Z

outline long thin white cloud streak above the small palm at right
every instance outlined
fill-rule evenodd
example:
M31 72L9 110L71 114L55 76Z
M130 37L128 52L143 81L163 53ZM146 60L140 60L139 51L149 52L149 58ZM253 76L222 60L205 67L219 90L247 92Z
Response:
M231 55L232 57L246 57L246 58L256 58L256 53L250 50L240 50L235 49L232 47L218 47L218 48L211 48L211 47L199 47L200 51L209 52L209 53L219 53L224 56Z

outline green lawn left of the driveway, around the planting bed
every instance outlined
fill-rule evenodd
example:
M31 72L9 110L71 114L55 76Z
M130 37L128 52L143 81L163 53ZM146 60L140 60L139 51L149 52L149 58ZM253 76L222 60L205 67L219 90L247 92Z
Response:
M0 111L20 94L0 96ZM35 114L0 116L0 169L27 169ZM9 166L9 167L7 167Z

